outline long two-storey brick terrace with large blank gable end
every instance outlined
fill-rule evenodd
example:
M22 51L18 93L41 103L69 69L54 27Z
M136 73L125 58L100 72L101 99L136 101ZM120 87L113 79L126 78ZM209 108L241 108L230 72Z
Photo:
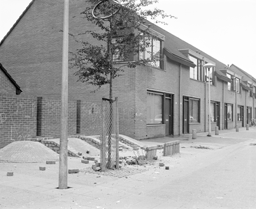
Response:
M69 32L98 28L80 18L85 1L70 1ZM2 63L21 85L24 95L60 98L62 73L61 0L33 0L0 42ZM229 66L201 52L171 33L152 24L163 61L155 66L124 68L114 79L113 96L119 99L120 133L135 139L208 131L208 84L210 71L211 127L245 126L255 115L256 80L235 65ZM91 38L89 41L94 41ZM78 47L70 39L70 51ZM120 63L122 64L122 63ZM77 82L69 70L69 98L99 103L108 98L108 86L95 90Z

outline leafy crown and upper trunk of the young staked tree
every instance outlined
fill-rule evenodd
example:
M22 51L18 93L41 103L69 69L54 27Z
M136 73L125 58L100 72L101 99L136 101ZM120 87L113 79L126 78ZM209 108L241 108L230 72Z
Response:
M85 8L81 15L88 22L98 26L99 30L88 30L78 35L90 34L98 43L77 40L82 47L76 49L76 52L70 52L71 68L78 69L75 73L79 77L78 81L87 82L98 88L109 84L109 99L112 100L113 79L121 75L124 66L135 68L136 65L154 65L162 59L159 52L140 59L138 56L144 51L151 54L149 48L152 40L156 38L150 27L145 26L147 20L164 23L157 20L157 17L173 17L157 8L143 9L157 2L158 0L87 0L91 6ZM108 17L105 19L101 18L106 16ZM131 59L135 55L138 59Z

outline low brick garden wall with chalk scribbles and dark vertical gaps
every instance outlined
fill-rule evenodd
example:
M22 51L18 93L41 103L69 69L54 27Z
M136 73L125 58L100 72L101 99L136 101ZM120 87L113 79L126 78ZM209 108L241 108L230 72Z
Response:
M13 141L60 136L61 101L0 93L0 148ZM69 101L68 134L101 134L101 104Z

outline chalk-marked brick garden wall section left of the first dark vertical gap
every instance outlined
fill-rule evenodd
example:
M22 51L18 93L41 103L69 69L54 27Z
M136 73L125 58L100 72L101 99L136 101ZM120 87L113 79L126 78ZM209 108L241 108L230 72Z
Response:
M0 93L0 148L36 136L36 98Z

